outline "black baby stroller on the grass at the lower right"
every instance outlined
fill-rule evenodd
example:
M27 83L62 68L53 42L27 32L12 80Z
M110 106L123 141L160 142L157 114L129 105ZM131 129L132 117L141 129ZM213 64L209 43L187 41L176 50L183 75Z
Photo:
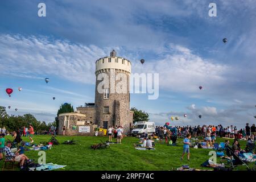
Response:
M230 159L227 159L227 161L228 161L228 164L231 164L232 168L237 167L237 166L241 166L241 165L245 165L246 168L249 169L246 162L241 160L239 158L239 156L234 153L233 149L230 146L226 146L226 155L228 157L230 157ZM226 160L226 159L222 159L221 163L223 163L224 160Z

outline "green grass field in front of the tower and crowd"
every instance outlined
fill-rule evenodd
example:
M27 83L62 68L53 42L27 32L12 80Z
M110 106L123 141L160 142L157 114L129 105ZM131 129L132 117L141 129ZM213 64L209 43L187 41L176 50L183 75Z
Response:
M6 136L6 139L11 139ZM34 143L48 141L51 138L49 135L36 135ZM191 168L202 168L200 164L209 159L210 149L193 149L191 148L191 160L184 159L181 161L180 156L183 151L182 139L178 139L177 146L167 146L166 144L156 143L156 150L141 151L135 150L133 143L138 143L137 138L126 137L122 144L111 144L110 148L101 150L92 150L90 145L97 144L100 140L106 141L108 137L63 137L57 136L57 140L63 143L65 140L79 140L76 145L60 144L53 146L51 150L46 151L46 163L55 163L59 165L67 165L60 170L172 170L181 167L183 164L188 164ZM27 137L23 137L24 141L28 142ZM217 142L222 142L225 139L217 138ZM233 140L230 140L232 143ZM245 147L245 141L240 142L242 148ZM30 158L38 161L38 151L26 151L25 154ZM217 163L219 163L217 159ZM0 162L2 169L3 160ZM250 164L250 166L255 166ZM18 169L18 167L16 167ZM245 170L245 166L238 168Z

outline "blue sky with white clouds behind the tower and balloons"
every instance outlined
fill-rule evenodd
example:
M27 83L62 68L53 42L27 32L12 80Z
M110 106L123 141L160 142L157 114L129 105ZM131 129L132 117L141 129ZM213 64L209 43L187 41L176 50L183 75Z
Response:
M40 2L46 17L38 17ZM208 15L211 2L217 17ZM94 101L94 63L115 49L133 73L159 73L158 100L131 94L131 107L151 121L255 123L255 18L250 0L1 1L0 105L52 122L61 103Z

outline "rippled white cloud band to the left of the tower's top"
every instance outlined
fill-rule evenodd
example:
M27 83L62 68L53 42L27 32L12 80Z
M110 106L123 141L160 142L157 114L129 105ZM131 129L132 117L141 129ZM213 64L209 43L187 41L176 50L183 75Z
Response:
M65 40L0 35L0 71L21 77L55 75L92 84L95 61L106 55L96 46L72 44ZM34 75L34 76L31 76Z

